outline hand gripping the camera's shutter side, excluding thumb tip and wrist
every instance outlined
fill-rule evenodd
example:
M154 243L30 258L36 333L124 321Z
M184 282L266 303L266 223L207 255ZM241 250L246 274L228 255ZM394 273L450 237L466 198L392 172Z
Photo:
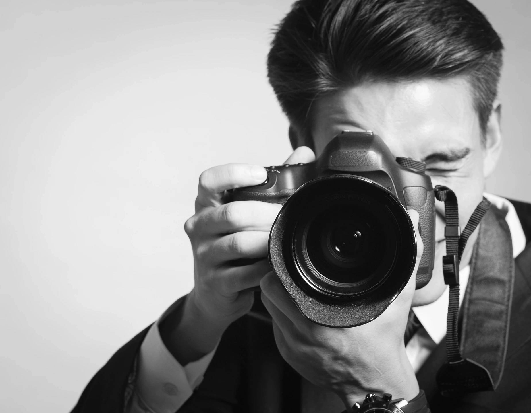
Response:
M220 325L228 326L251 309L251 288L270 270L268 236L281 208L260 201L224 203L225 191L266 178L264 168L247 164L215 166L199 177L195 214L184 225L194 256L188 300Z

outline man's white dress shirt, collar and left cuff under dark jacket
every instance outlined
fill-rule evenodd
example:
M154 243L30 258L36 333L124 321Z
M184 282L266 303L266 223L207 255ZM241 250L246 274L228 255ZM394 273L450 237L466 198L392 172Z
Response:
M485 197L493 205L507 212L506 221L511 231L512 250L516 257L525 248L525 235L515 208L507 199L490 194L485 194ZM468 282L469 267L460 270L459 275L461 303ZM447 287L438 300L413 309L423 325L406 346L407 356L415 372L446 335L448 294ZM139 371L129 413L174 413L201 383L203 374L216 352L214 349L198 361L183 367L170 354L160 338L160 320L151 326L140 348Z

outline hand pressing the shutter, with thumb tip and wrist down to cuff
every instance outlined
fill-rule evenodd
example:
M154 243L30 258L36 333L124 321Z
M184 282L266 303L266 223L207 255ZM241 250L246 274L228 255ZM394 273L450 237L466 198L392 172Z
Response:
M286 163L314 159L309 148L299 147ZM252 288L270 270L269 232L281 205L226 203L225 192L266 178L264 168L246 164L215 166L199 178L195 214L184 225L194 256L194 288L182 312L167 319L161 331L168 349L183 365L211 352L229 324L249 312ZM242 260L252 263L242 265Z

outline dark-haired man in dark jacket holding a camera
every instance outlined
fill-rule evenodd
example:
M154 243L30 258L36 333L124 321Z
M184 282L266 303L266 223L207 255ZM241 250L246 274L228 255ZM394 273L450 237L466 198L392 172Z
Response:
M501 150L502 48L490 23L465 0L296 2L268 56L269 80L295 148L286 162L313 161L342 130L370 129L395 156L423 160L433 186L455 192L464 228ZM306 320L270 272L268 235L280 205L227 202L227 190L266 176L263 168L243 164L201 174L196 213L185 224L195 260L192 292L110 359L75 412L324 413L350 411L368 392L411 401L421 390L432 411L529 408L531 206L491 196L490 221L472 233L460 261L461 290L471 260L475 286L463 302L461 349L465 357L493 361L487 371L496 391L445 398L435 384L446 361L443 204L436 203L430 283L415 291L413 276L379 318L332 329ZM418 214L409 214L417 227ZM486 235L491 230L500 236ZM413 274L422 254L418 233L417 243ZM492 265L484 268L489 257L507 265L491 274ZM498 284L491 282L496 276ZM267 312L259 310L258 286ZM503 302L497 301L501 289ZM422 326L405 343L411 307ZM485 342L487 350L480 348Z

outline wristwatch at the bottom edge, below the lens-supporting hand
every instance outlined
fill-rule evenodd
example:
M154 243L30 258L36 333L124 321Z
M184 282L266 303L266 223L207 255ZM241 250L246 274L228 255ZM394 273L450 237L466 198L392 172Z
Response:
M352 410L356 413L430 413L423 390L409 401L403 398L393 400L389 393L382 396L369 393L362 404L356 403Z

